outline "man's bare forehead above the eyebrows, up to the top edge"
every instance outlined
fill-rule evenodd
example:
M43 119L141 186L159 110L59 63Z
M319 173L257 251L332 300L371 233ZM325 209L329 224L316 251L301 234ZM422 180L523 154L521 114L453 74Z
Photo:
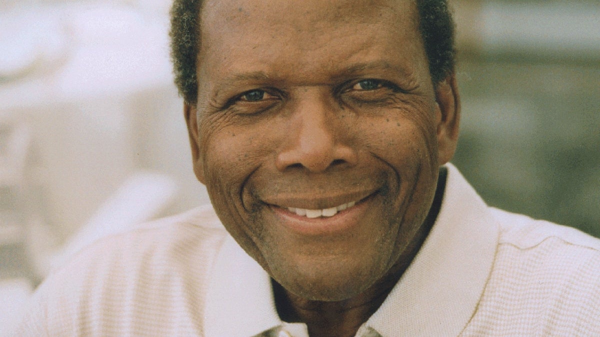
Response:
M422 59L416 13L412 0L208 0L199 68L211 79L217 69L314 79L371 61Z

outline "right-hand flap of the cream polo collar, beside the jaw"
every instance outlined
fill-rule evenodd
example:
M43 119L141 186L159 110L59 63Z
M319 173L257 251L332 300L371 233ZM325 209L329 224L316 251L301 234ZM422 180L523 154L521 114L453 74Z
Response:
M367 326L383 336L457 336L469 323L496 255L500 227L456 167L436 224Z

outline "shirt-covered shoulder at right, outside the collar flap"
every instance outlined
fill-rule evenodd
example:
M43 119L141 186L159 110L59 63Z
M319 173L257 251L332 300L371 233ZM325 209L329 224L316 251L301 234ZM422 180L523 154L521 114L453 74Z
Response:
M575 228L491 209L493 269L467 331L600 334L600 240Z

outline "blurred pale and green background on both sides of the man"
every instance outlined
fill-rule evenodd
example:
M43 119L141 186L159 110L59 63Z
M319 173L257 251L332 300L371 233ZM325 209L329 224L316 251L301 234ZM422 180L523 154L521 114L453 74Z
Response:
M598 0L451 0L454 164L492 206L600 236ZM0 335L98 237L209 202L168 0L0 0Z

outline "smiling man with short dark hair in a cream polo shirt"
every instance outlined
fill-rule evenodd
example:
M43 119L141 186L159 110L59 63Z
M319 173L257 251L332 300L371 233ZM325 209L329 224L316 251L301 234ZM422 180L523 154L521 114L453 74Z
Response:
M600 334L600 242L458 171L444 1L177 0L176 83L212 207L96 243L30 335ZM221 227L221 224L223 227Z

